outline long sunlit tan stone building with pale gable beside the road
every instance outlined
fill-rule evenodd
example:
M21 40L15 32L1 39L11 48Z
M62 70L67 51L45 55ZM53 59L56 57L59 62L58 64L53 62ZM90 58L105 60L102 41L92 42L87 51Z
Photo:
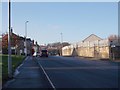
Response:
M102 39L91 34L79 43L73 44L74 48L66 46L62 48L63 55L94 58L110 58L110 46L108 39ZM71 52L72 50L72 52Z

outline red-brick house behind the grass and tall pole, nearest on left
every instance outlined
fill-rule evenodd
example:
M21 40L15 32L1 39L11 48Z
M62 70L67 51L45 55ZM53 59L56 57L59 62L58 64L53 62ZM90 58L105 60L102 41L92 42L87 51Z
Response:
M30 38L26 39L27 42L27 54L31 54L32 40ZM25 38L19 36L11 30L11 51L12 54L22 55L25 54ZM2 36L2 53L8 53L8 34Z

